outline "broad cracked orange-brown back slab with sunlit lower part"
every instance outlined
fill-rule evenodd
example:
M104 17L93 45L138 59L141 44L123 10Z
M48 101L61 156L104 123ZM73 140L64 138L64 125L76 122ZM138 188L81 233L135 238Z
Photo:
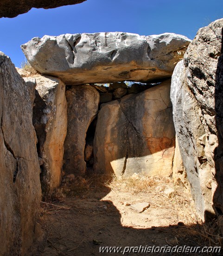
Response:
M94 140L94 169L115 175L172 173L175 129L170 80L102 104Z

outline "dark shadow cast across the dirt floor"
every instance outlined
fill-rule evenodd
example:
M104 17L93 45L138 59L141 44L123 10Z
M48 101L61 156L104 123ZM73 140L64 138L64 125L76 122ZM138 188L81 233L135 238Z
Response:
M203 225L200 224L186 226L181 223L146 229L123 226L121 223L123 216L114 203L103 199L109 193L110 189L104 186L104 183L95 183L95 186L83 191L74 189L73 194L70 193L71 196L69 195L60 203L56 202L67 209L56 208L51 211L53 207L47 206L46 212L40 216L40 224L45 235L40 242L34 244L27 256L205 255L205 253L178 254L176 252L171 254L163 251L158 253L159 249L153 253L148 251L156 246L166 246L166 248L168 246L213 246L210 243L211 239L204 232ZM149 218L150 208L147 214ZM140 251L136 252L137 249L130 251L130 247L140 247L140 245ZM122 247L122 251L126 247L126 252L125 254L123 252L100 253L100 247L107 246Z

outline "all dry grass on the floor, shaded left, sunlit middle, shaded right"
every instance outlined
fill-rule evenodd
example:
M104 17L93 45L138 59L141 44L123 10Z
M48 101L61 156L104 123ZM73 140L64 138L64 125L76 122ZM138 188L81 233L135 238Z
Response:
M165 190L172 188L174 193L166 195ZM219 227L222 220L213 220L203 223L196 214L195 205L191 194L182 184L174 184L171 177L151 177L146 174L134 174L130 177L122 176L112 179L105 175L88 175L86 177L65 177L62 186L55 191L52 201L63 202L65 197L77 196L84 198L85 195L96 193L96 191L115 192L118 198L121 193L130 193L133 197L147 198L153 208L168 209L169 216L175 216L178 222L170 225L168 231L161 228L163 232L171 232L172 239L167 240L171 246L222 246L223 237ZM55 201L54 201L55 202ZM58 212L60 209L53 205L42 205L47 214ZM168 216L166 216L168 218ZM172 231L170 231L172 230ZM193 254L196 255L196 254ZM212 254L208 254L212 255Z

